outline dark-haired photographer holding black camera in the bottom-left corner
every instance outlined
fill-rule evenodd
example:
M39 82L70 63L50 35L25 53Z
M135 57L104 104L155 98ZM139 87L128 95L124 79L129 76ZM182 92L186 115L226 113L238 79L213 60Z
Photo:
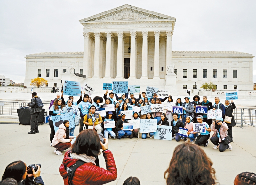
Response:
M27 165L21 160L10 163L6 166L2 181L7 178L15 179L18 184L42 184L44 182L40 176L41 165Z

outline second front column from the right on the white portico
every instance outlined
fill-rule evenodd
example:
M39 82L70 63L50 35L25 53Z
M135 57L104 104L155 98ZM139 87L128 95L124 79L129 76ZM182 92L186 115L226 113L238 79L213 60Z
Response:
M155 51L154 51L154 77L153 79L160 79L159 76L159 38L160 31L154 31L155 35Z

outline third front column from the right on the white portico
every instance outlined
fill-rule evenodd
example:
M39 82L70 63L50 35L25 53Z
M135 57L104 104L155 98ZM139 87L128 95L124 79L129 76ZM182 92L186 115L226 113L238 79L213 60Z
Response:
M142 70L140 79L148 79L148 31L142 31Z

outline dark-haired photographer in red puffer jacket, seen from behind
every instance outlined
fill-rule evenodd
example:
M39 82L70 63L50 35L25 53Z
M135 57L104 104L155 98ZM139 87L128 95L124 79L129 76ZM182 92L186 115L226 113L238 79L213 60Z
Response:
M103 150L107 170L95 164L100 149ZM72 149L65 153L59 171L64 184L106 184L116 180L117 169L113 154L108 149L108 139L100 139L95 130L83 130Z

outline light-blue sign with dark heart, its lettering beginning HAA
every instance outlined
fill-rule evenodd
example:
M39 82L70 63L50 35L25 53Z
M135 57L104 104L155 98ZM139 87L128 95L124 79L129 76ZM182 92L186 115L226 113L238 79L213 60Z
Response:
M57 116L51 116L52 117L52 122L54 126L55 132L59 129L59 126L63 123L64 120L69 121L69 129L75 127L75 122L73 120L73 113L68 112L65 114L57 115Z

